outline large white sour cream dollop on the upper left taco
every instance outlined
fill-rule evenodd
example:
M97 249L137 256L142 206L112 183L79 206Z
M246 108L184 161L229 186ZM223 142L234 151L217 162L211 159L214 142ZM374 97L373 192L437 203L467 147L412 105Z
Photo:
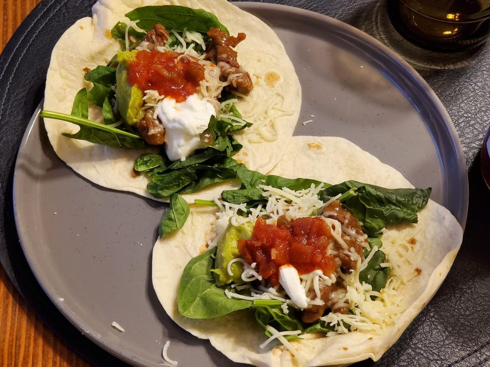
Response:
M192 94L183 102L164 98L156 107L165 128L165 153L170 161L185 160L197 149L206 148L199 134L216 112L211 103Z

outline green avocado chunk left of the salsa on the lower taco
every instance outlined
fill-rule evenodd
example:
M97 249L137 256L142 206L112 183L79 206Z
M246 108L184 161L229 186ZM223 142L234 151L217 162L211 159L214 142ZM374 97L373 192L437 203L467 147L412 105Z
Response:
M250 222L243 223L239 226L228 225L225 233L218 242L216 250L216 261L214 263L216 269L212 269L216 278L216 285L229 284L233 282L241 282L241 273L243 266L240 263L233 263L231 271L233 276L228 274L228 263L234 258L241 257L238 252L238 240L250 239L254 225Z

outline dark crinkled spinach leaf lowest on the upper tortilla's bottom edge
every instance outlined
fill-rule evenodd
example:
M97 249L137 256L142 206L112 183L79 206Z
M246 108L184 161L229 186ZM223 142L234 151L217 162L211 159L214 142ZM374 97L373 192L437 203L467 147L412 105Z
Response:
M150 177L151 181L146 185L146 189L158 199L179 192L198 178L195 170L188 167L162 175L153 174Z

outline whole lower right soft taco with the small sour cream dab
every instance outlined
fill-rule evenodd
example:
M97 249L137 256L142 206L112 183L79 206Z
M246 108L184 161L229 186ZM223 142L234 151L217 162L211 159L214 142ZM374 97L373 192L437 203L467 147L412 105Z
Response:
M289 147L271 175L238 168L239 190L191 205L156 242L158 299L236 362L378 360L446 277L461 226L430 189L345 139Z

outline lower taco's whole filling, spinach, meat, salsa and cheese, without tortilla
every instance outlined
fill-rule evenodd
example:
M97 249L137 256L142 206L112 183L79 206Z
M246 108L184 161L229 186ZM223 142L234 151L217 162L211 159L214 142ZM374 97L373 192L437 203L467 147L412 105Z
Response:
M300 361L286 339L377 332L394 322L396 314L389 309L401 299L397 286L420 273L412 269L401 276L404 260L388 259L381 250L383 228L416 222L430 189L390 190L355 181L329 186L264 177L259 182L278 183L259 183L255 190L261 197L248 200L251 189L243 188L223 192L234 203L215 200L216 237L183 271L180 313L212 319L250 308L269 337L260 347L278 338ZM281 183L286 186L281 188ZM384 211L384 217L378 211ZM411 250L401 246L399 253L404 257ZM205 275L192 274L203 261L208 264L201 271L214 283L212 297L192 286L195 276Z

